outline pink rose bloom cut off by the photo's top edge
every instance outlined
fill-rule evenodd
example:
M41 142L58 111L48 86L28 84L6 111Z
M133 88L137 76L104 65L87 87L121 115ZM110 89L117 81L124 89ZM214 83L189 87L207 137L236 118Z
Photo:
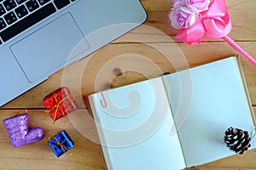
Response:
M206 11L209 8L211 0L184 0L189 8L192 8L197 13Z

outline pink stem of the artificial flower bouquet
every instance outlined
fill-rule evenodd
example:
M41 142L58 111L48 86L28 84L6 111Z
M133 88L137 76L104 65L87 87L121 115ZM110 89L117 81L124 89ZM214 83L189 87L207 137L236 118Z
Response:
M241 48L234 40L232 40L230 37L225 36L223 39L230 44L232 48L235 48L236 51L240 54L242 54L248 61L250 61L255 67L256 67L256 60L253 59L253 57L250 54L247 54L247 52Z

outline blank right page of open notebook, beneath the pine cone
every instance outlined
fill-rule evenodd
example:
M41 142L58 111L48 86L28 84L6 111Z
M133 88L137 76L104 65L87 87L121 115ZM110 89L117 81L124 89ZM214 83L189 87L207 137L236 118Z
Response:
M164 77L164 82L173 115L177 119L185 117L177 127L187 166L233 155L224 143L225 130L253 128L236 58L177 72Z

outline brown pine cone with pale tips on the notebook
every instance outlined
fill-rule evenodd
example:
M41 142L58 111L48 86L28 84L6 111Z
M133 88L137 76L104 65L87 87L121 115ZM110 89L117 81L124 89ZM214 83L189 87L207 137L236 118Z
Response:
M224 142L230 150L239 154L243 154L245 150L248 150L251 146L250 141L249 133L239 128L230 127L226 130L224 135Z

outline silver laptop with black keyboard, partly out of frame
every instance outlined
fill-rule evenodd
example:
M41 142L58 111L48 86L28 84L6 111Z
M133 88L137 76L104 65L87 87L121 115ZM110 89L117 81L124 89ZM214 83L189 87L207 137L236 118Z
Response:
M144 20L139 0L0 0L0 106Z

